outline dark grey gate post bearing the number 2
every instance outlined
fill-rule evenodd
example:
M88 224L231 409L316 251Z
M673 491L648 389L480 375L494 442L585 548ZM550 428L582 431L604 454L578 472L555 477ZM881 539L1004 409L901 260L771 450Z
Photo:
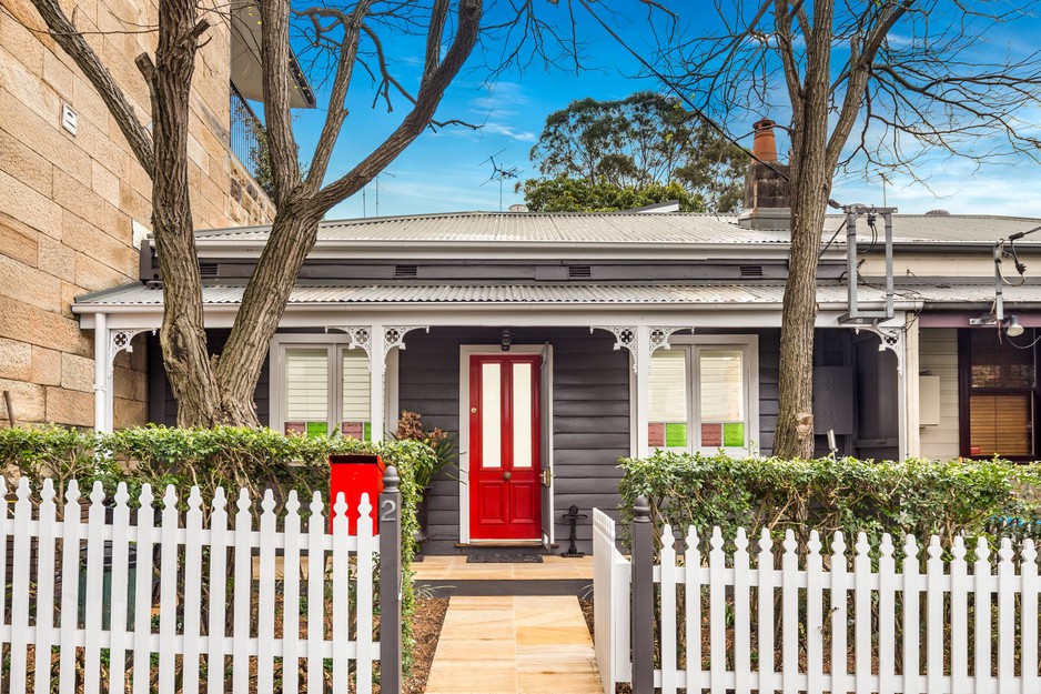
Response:
M402 691L402 493L394 465L383 473L380 520L380 691Z

